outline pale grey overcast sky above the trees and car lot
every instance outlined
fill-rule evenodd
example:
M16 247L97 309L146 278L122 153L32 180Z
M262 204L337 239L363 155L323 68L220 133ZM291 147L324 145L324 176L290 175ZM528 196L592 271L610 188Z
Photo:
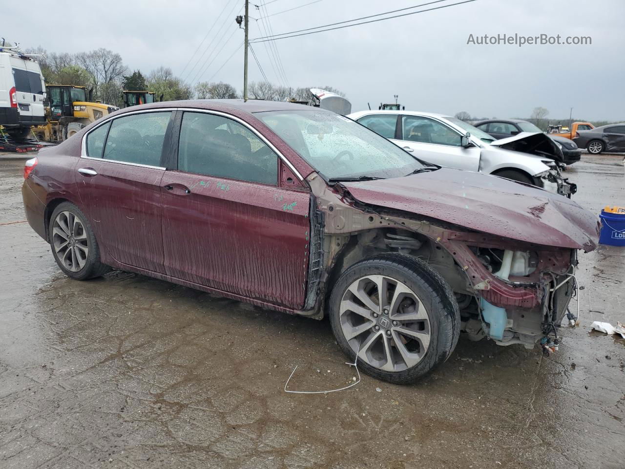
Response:
M314 0L265 1L269 24L277 34L431 0L319 0L287 13L279 12ZM143 73L164 65L192 83L212 78L241 90L243 49L227 63L226 59L243 41L243 31L234 22L243 4L242 0L107 0L77 6L75 1L56 0L51 8L49 1L31 0L25 8L24 3L7 2L2 17L11 21L1 22L0 36L22 48L42 46L54 52L104 47ZM251 4L250 16L263 15ZM377 108L398 94L399 102L412 110L505 118L529 117L533 108L543 106L549 109L549 118L568 118L572 107L574 118L624 121L624 19L623 0L477 0L274 44L287 85L334 86L346 93L352 111L366 109L367 103ZM251 39L267 35L266 21L251 20ZM207 41L194 55L207 33ZM467 45L469 34L504 33L591 36L592 45ZM216 54L220 39L225 43L230 36ZM266 44L253 47L269 81L279 83ZM211 51L212 46L216 50ZM211 53L216 59L209 65L209 58L202 67ZM251 55L249 79L262 79Z

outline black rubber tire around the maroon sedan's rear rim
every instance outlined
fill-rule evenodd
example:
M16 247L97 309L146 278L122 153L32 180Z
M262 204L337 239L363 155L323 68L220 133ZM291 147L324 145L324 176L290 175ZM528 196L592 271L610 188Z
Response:
M59 255L55 248L54 236L56 235L54 235L54 221L57 219L59 214L63 212L69 212L73 214L73 216L76 217L84 227L84 235L86 235L86 245L88 246L88 253L86 255L86 260L84 261L84 266L82 266L82 268L77 271L69 270L64 262L59 258ZM108 265L104 265L100 261L98 241L96 241L96 237L93 234L93 228L91 228L89 219L84 215L81 209L79 209L73 203L63 202L54 209L48 224L48 242L50 243L54 260L56 261L59 268L61 268L61 270L68 277L74 278L75 280L88 280L89 278L102 276L109 270L111 270Z

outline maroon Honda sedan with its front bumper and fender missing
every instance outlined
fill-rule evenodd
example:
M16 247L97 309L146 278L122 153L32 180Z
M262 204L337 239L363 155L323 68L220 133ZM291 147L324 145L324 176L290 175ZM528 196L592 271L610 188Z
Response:
M395 383L461 331L553 350L599 228L570 199L269 101L122 109L39 151L24 179L27 219L71 278L121 269L327 315L342 350Z

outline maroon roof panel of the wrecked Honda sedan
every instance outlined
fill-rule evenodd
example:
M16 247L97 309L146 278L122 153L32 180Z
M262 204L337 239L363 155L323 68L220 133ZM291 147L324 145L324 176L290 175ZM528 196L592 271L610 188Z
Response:
M283 103L281 101L265 101L264 99L184 99L181 101L162 101L159 103L141 104L139 106L131 106L119 111L124 112L137 111L138 109L158 109L158 108L197 108L209 109L211 111L222 111L232 113L232 111L244 112L247 114L263 113L267 111L321 111L329 112L324 109L306 106L305 104Z

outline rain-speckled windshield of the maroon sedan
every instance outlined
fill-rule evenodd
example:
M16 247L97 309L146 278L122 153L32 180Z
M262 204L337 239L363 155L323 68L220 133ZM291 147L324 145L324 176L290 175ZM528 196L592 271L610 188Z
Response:
M325 179L397 178L427 164L351 119L326 111L254 114Z

